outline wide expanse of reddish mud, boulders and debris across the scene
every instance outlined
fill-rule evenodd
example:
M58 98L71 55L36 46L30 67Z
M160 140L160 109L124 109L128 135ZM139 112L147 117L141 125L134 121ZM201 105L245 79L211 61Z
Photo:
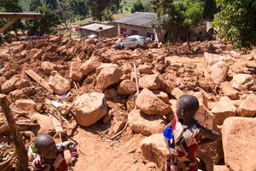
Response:
M235 153L244 140L233 137L241 134L248 143L255 140L255 131L243 132L249 124L255 130L255 118L246 118L256 113L256 66L248 67L250 60L255 61L255 50L241 55L217 43L218 54L209 53L212 43L192 43L201 46L194 54L187 54L184 44L169 50L150 44L145 49L116 50L111 48L115 41L48 37L1 56L1 93L8 95L20 131L62 136L73 128L74 120L83 127L101 121L111 122L105 138L113 140L129 126L147 137L141 142L143 158L163 168L167 151L163 128L172 120L177 98L195 94L201 102L196 118L223 134L223 141L202 145L197 152L207 170L223 158L233 170L253 167L252 161L245 161L247 153ZM170 52L205 60L179 61L182 57ZM9 145L3 114L0 119L0 134L7 138L0 143Z

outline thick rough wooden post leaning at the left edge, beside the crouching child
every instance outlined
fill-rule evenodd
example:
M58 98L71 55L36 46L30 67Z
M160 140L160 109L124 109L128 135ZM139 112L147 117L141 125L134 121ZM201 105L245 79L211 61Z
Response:
M6 117L7 123L9 124L10 132L13 136L13 140L15 143L15 151L18 159L17 169L20 171L27 171L28 157L26 155L26 147L22 142L19 129L17 128L15 118L9 109L9 102L5 94L0 94L0 104L2 107L3 114Z

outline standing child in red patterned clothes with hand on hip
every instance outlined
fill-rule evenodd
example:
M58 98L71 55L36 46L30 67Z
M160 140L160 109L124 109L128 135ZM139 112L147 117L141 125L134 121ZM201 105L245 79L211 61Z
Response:
M166 156L166 171L197 171L195 152L198 145L218 140L220 134L204 128L194 116L199 109L199 101L193 95L182 95L177 99L176 116L166 128L173 131L173 140L166 145L170 154ZM172 128L172 129L170 129ZM165 131L165 135L166 132ZM172 135L169 135L172 137Z

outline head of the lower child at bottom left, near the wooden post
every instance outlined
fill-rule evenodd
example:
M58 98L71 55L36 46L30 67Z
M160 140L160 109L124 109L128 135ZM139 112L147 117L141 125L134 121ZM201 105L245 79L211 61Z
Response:
M42 156L48 159L55 157L57 152L55 140L49 134L39 134L34 143Z

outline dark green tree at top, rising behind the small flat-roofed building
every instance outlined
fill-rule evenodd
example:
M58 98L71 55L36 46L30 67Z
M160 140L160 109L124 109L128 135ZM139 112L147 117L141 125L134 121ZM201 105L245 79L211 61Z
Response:
M90 9L93 20L102 20L102 15L108 10L116 13L119 9L120 0L85 0L85 5Z

